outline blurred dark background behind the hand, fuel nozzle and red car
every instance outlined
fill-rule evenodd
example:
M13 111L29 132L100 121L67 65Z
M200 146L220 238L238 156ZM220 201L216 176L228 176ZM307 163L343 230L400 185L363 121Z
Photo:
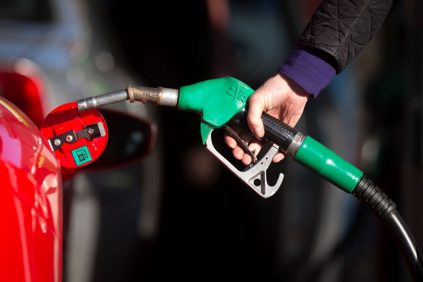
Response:
M2 1L0 93L40 126L60 104L127 84L231 76L256 89L320 2ZM297 124L384 189L420 246L422 13L422 1L400 1ZM41 98L16 100L16 87L32 97L22 76ZM387 229L351 195L286 158L269 168L269 184L285 177L263 200L205 150L198 115L127 102L112 108L157 124L157 147L63 183L63 281L411 281Z

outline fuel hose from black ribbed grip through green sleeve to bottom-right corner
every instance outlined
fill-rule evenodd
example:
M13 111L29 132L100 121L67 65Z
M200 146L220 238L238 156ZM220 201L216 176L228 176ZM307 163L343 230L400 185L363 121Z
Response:
M248 110L233 116L231 123L250 131L247 124ZM263 113L262 139L273 142L279 150L292 156L295 162L326 179L343 191L353 194L367 206L377 218L385 222L393 235L414 281L423 281L423 258L418 245L404 220L396 210L396 204L378 186L363 175L357 167L342 159L310 136L304 137L297 129Z

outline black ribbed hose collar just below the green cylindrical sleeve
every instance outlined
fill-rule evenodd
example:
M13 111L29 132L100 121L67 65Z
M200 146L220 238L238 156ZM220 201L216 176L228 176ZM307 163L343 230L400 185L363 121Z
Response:
M351 194L357 197L380 220L387 219L396 211L396 203L365 175L361 177Z

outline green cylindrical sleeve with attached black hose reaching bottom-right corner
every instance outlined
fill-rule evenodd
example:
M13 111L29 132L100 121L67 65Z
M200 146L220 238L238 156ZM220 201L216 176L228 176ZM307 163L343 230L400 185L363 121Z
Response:
M423 281L422 254L393 200L357 167L309 136L305 137L293 159L343 191L353 194L384 221L401 250L413 280Z

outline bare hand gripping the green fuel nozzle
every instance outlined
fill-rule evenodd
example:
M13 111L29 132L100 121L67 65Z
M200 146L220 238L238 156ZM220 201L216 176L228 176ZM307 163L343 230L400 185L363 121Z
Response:
M307 91L284 74L279 73L269 78L250 96L247 115L250 130L258 138L264 136L263 121L261 120L262 112L266 112L294 127L301 117L309 96L310 94ZM244 142L249 144L251 151L256 150L256 153L258 153L264 144L266 144L265 141L254 138L246 131L239 129L233 130L239 134L239 137ZM232 153L236 159L242 159L244 164L250 164L251 156L244 153L244 150L228 133L225 134L225 142L233 149ZM273 158L273 162L279 162L284 156L283 153L277 153Z

